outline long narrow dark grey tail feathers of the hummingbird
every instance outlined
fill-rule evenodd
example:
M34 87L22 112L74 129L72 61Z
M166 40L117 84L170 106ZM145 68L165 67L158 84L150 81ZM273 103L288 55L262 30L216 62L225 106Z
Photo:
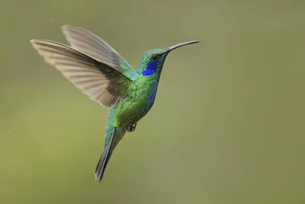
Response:
M115 132L115 130L113 131L109 142L104 147L101 159L100 159L100 161L98 163L98 166L95 170L95 177L96 177L96 181L98 181L98 183L100 183L102 178L103 178L104 171L106 169L107 163L108 163L108 161L110 159L110 156L111 156L111 153L113 151L113 149L111 149L111 144L112 144L114 132Z

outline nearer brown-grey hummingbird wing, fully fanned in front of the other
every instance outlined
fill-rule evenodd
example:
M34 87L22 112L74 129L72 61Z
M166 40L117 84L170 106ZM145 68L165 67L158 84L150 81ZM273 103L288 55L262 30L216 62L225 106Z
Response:
M112 108L120 97L128 94L133 81L94 57L48 40L30 42L48 64L102 106Z

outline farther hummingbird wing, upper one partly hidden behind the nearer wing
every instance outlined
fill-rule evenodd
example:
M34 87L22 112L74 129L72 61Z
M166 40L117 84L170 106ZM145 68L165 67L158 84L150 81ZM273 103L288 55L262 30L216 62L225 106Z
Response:
M135 73L129 63L97 35L70 25L64 25L62 30L71 47L95 57L127 77Z

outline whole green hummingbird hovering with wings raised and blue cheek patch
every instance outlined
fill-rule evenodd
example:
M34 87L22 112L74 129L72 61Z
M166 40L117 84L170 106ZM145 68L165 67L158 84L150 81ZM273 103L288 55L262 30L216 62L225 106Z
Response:
M108 43L81 27L64 25L70 46L32 39L34 49L76 88L110 109L102 155L95 170L100 183L113 150L125 133L133 132L153 106L166 56L190 41L144 53L136 71Z

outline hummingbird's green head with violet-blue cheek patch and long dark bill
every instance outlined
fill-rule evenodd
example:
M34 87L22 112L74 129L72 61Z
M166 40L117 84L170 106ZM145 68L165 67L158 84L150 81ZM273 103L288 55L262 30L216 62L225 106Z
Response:
M147 51L142 56L139 68L137 69L137 73L142 74L143 76L160 75L166 56L170 51L184 45L189 45L198 42L200 41L190 41L180 43L166 49L153 49Z

